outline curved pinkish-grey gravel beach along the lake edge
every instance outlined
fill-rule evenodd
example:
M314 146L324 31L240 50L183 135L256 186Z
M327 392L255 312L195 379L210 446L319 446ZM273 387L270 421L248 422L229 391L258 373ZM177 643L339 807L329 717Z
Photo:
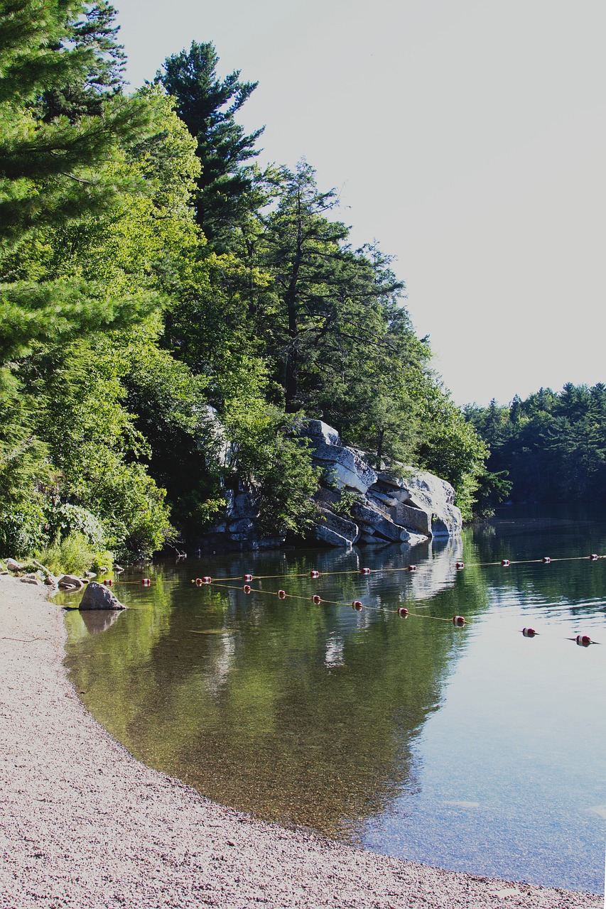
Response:
M139 764L63 667L63 611L0 576L0 906L601 907L284 830Z

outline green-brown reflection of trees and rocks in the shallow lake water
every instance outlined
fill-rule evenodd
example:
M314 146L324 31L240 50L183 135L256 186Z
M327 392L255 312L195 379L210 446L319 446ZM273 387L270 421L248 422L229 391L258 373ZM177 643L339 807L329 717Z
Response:
M387 557L320 551L249 560L252 574L284 574L280 585L299 600L247 596L233 582L192 587L191 564L160 567L155 580L177 574L183 583L125 586L124 602L146 600L148 610L124 613L102 648L78 635L68 662L86 704L148 763L226 804L343 834L417 786L410 742L439 703L454 638L442 623L394 613L453 586L460 545L423 547L415 574L394 571L411 561L398 547ZM389 584L360 575L363 564L392 572ZM312 580L310 565L331 574ZM241 577L242 566L226 557L213 574ZM314 593L374 608L318 606ZM76 624L71 614L67 621Z

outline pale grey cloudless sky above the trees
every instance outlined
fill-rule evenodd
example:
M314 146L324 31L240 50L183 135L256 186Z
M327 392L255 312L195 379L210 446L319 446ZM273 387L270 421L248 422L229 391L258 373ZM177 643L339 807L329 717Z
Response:
M602 0L114 0L131 88L212 41L259 162L395 256L459 405L606 382Z

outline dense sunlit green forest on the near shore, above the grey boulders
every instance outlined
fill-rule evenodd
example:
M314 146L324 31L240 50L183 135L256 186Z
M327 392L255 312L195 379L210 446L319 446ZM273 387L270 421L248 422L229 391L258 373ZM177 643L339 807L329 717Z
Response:
M469 515L487 449L389 255L352 248L311 165L258 165L256 84L211 43L127 95L115 15L0 2L0 554L150 554L234 484L303 533L300 415L439 474Z

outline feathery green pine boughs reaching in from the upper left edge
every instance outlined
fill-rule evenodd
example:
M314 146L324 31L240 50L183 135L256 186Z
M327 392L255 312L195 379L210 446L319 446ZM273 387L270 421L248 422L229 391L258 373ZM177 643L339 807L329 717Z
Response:
M103 9L109 15L111 7ZM45 122L46 93L56 85L96 91L91 73L96 60L99 72L106 71L106 52L95 42L72 42L73 23L86 17L82 4L20 0L0 4L0 12L2 363L35 341L132 321L154 300L112 298L96 281L21 274L19 258L41 231L118 210L125 194L146 192L145 181L116 170L116 162L121 144L149 131L150 114L145 99L116 95L103 102L102 116Z

